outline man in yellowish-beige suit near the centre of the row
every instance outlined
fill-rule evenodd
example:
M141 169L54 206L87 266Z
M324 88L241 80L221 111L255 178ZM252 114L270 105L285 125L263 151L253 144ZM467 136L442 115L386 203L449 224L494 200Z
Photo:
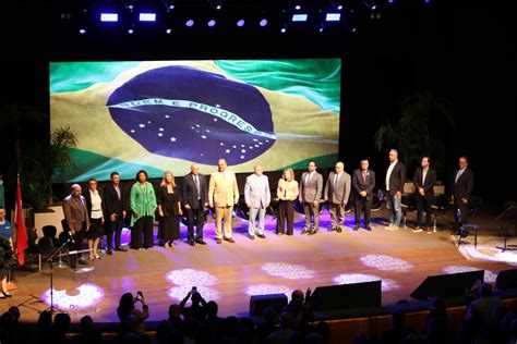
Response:
M217 244L223 239L235 243L231 237L231 213L233 205L239 201L239 187L237 186L236 173L227 170L225 159L217 161L218 171L212 173L208 185L208 201L211 208L216 211L216 238ZM221 231L221 220L225 218L225 235Z

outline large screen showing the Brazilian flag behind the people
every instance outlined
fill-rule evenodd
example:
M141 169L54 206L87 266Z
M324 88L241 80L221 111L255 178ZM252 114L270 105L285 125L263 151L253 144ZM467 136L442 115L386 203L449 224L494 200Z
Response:
M144 169L203 173L333 165L339 59L50 63L51 128L70 127L68 181L132 179Z

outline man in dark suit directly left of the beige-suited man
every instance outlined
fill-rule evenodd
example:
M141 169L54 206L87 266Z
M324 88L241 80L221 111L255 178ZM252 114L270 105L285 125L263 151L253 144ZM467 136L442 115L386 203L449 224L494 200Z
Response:
M189 221L187 242L191 246L195 246L195 243L206 245L203 241L203 225L205 224L205 208L208 207L208 183L206 183L206 177L200 173L197 163L192 163L190 171L191 173L183 177L182 186L182 199Z

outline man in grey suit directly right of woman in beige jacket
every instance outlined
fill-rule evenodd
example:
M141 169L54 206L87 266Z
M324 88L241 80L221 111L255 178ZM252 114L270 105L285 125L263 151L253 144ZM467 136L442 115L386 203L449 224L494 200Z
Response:
M320 229L320 198L323 193L323 176L316 172L316 168L315 161L309 161L309 171L303 172L300 181L298 200L303 206L305 214L305 228L301 234L313 235Z

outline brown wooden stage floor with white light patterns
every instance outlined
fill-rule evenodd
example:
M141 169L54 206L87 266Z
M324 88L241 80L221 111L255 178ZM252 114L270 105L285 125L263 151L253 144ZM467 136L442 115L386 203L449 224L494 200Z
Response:
M290 293L316 286L383 280L383 305L409 294L428 277L484 269L493 282L501 270L515 268L505 262L469 261L452 241L450 230L412 233L410 229L384 230L381 219L373 231L352 231L353 216L347 214L347 230L327 232L329 216L321 217L316 235L300 235L303 216L297 214L293 236L275 235L275 220L267 217L266 239L247 237L248 222L233 219L236 244L214 239L214 224L205 225L206 246L191 247L183 242L187 229L175 248L155 246L149 250L116 251L89 262L94 270L75 273L53 269L55 307L68 310L73 320L89 314L95 321L118 321L117 307L125 292L142 291L149 305L151 320L167 318L170 304L179 303L192 286L205 299L219 305L220 316L247 316L250 295ZM128 231L124 238L129 237ZM34 321L48 307L41 299L50 285L49 268L43 273L15 272L12 298L0 300L0 311L21 306L22 320ZM45 294L45 295L44 295Z

